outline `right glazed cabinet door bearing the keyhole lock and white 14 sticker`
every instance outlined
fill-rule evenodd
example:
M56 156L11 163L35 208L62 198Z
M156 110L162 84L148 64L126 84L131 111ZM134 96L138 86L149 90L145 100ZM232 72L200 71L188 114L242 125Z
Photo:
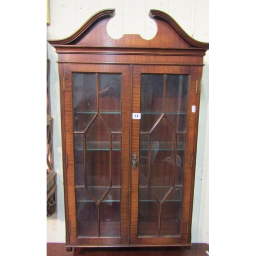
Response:
M131 245L190 243L197 80L197 67L133 69Z

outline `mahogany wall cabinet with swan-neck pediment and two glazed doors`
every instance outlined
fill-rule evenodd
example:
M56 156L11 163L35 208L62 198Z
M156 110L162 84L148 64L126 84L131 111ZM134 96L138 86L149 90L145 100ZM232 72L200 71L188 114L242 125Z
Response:
M152 10L157 34L111 38L114 10L49 40L58 53L66 246L191 245L208 44Z

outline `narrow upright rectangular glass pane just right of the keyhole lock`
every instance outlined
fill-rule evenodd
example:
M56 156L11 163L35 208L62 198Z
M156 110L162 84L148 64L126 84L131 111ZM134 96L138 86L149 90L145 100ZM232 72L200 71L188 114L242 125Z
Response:
M147 186L148 175L148 144L150 136L147 134L140 135L140 160L139 160L139 184Z

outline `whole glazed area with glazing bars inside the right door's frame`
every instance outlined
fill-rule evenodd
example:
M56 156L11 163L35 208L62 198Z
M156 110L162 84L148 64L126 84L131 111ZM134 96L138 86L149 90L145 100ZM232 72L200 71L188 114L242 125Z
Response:
M189 76L164 76L141 76L139 236L181 230Z

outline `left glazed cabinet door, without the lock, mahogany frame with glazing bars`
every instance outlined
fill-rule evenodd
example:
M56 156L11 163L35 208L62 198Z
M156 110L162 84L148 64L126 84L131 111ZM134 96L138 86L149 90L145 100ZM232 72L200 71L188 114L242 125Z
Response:
M129 243L129 66L63 64L70 245Z

